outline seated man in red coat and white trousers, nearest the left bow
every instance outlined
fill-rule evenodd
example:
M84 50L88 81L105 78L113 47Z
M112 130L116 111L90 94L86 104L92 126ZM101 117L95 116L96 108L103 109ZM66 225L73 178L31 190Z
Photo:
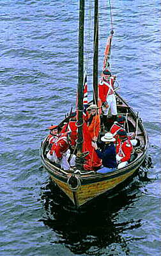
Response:
M65 132L64 134L61 134L47 153L47 158L53 163L60 164L63 170L70 170L70 165L66 159L66 151L68 150L70 143L70 132Z

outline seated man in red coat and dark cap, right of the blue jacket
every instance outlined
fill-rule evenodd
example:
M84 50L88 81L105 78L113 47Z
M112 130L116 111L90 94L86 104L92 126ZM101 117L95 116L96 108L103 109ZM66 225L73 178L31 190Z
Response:
M118 131L118 144L116 145L116 159L118 161L118 168L123 168L128 164L132 154L132 143L127 136L126 131Z

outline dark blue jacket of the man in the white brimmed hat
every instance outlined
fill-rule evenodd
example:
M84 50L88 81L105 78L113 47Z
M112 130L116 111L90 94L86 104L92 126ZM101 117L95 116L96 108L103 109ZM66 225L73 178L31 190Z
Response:
M116 149L114 143L105 144L104 150L101 152L96 149L96 154L102 159L102 164L107 168L116 168Z

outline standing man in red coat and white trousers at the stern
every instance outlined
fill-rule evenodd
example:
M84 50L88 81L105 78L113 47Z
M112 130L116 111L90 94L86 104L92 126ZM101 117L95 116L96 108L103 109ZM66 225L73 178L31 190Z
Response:
M102 110L104 111L104 124L107 122L109 109L111 109L113 120L115 120L118 115L116 97L114 95L115 80L116 76L111 76L111 72L104 70L102 73L102 79L100 79L98 84L98 95L102 101Z

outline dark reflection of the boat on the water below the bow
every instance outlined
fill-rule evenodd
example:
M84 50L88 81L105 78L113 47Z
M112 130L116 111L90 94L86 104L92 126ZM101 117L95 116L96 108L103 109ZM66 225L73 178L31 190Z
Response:
M119 210L132 207L135 200L139 199L140 186L141 182L135 180L130 188L118 195L112 198L101 196L95 204L75 211L70 200L50 180L42 188L45 214L40 221L56 232L57 240L53 243L64 244L75 254L96 255L113 243L119 244L121 250L126 252L127 241L121 234L141 227L142 221L132 218L125 221L123 218L123 222L118 223L118 214Z

